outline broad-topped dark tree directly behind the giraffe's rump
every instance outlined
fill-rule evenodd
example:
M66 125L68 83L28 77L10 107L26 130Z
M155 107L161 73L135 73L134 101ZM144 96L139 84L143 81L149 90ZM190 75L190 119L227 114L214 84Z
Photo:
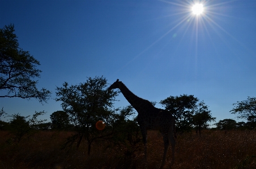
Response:
M199 99L193 95L187 96L184 94L183 96L170 96L160 101L160 103L174 115L177 130L188 131L192 128L193 114L197 108L198 101Z

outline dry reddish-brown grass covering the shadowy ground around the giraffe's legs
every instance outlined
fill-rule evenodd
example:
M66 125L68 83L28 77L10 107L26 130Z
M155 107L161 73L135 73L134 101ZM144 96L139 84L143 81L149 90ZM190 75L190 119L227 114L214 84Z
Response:
M0 168L143 168L143 145L133 158L125 148L108 148L108 142L92 145L87 155L83 142L78 150L61 150L69 132L40 132L19 144L0 132ZM256 168L256 131L203 131L202 135L178 135L175 162L171 148L164 168ZM148 132L148 168L159 168L163 155L159 132Z

